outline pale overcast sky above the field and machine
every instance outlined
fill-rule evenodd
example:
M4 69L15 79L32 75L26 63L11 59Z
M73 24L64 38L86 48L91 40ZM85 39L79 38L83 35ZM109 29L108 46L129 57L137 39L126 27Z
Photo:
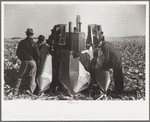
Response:
M83 4L84 3L84 4ZM33 28L34 36L46 38L55 24L76 25L81 16L82 32L87 35L88 24L100 24L106 37L145 35L146 5L101 4L5 4L4 37L25 37L27 28Z

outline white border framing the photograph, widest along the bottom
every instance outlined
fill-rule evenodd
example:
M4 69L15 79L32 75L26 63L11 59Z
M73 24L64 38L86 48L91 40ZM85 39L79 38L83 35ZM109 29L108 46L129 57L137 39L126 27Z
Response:
M143 4L146 5L146 99L145 101L4 101L4 5L5 4ZM1 2L1 118L2 121L52 120L149 120L149 2L80 1Z

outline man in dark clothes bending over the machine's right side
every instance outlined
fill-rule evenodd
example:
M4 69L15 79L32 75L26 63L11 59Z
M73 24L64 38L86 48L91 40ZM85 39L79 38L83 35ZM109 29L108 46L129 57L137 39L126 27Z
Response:
M101 41L100 47L105 57L102 69L108 70L113 68L115 89L118 93L121 93L124 87L122 74L122 56L110 42Z

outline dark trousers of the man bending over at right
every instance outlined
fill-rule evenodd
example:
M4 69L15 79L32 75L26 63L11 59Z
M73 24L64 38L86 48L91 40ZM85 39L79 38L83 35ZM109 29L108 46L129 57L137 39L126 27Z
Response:
M113 78L115 83L115 89L118 93L121 93L123 90L123 74L122 74L122 67L113 68Z

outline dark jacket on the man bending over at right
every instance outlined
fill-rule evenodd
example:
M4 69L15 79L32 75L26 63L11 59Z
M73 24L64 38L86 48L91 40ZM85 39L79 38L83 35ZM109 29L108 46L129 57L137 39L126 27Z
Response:
M105 57L102 69L122 67L121 54L110 42L104 41L101 45L101 50Z

